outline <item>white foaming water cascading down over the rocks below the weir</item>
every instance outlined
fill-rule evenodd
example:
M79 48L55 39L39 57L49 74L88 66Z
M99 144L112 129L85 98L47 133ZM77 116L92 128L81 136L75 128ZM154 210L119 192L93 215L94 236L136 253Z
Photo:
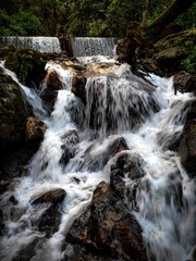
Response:
M130 153L139 154L145 162L143 169L146 175L140 179L142 185L137 186L136 207L128 198L135 181L126 176L124 181L125 201L143 227L149 260L193 261L192 250L196 243L195 187L177 156L167 147L168 142L182 132L188 110L187 103L194 99L193 95L177 92L174 96L172 78L163 79L151 75L151 80L158 86L152 97L160 108L155 113L149 104L149 86L133 76L128 66L123 64L114 69L113 76L88 79L86 119L82 119L84 125L81 126L73 114L78 113L81 108L79 117L83 117L84 108L70 90L71 76L59 65L49 66L53 66L52 69L61 74L64 87L59 91L50 117L45 117L48 128L40 149L29 163L28 175L16 179L15 190L5 192L1 199L5 211L7 232L1 239L1 260L12 260L22 246L33 241L35 237L45 236L38 232L37 223L49 204L32 206L30 198L51 188L63 188L68 195L61 204L62 219L59 229L51 238L42 241L41 247L36 249L35 257L30 259L59 261L63 254L61 244L72 222L88 206L96 186L101 181L110 181L109 166L115 157L109 158L106 165L103 152L117 137L124 137ZM7 70L4 72L10 74ZM20 86L28 99L26 87ZM108 89L111 100L107 97ZM99 126L96 127L97 139L94 138L94 130L89 128L95 95L95 116L100 113ZM136 119L128 113L127 108L139 111L138 102L148 113L137 113L140 121L133 126ZM36 112L39 105L37 102L32 102L32 105ZM114 129L107 127L108 110ZM36 115L44 117L42 109L40 111L41 113ZM65 138L71 130L77 134L77 138ZM68 163L61 161L64 150L72 154ZM13 207L9 203L11 196L17 200L12 215Z

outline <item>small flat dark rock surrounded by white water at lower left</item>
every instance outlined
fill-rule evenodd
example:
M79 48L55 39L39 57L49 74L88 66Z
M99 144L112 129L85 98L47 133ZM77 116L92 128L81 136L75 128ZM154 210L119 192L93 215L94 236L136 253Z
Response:
M30 203L32 204L37 204L37 203L46 203L46 202L51 202L51 203L61 203L66 196L66 192L62 188L56 188L51 189L49 191L44 191L39 195L33 196L30 198Z

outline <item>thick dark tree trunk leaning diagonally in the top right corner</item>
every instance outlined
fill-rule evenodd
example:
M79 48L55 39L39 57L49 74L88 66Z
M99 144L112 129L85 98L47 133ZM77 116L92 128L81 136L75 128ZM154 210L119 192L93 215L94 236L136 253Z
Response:
M148 39L156 39L161 30L180 14L185 13L192 3L194 3L194 0L174 0L151 25L146 27Z

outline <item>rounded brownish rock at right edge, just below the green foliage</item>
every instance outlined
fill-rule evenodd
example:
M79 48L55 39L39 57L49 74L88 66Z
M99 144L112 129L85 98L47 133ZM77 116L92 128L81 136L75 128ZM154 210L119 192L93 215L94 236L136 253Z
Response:
M196 92L196 76L185 71L174 75L174 89L181 92Z

